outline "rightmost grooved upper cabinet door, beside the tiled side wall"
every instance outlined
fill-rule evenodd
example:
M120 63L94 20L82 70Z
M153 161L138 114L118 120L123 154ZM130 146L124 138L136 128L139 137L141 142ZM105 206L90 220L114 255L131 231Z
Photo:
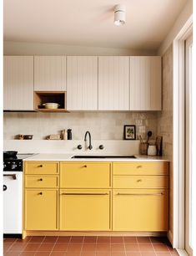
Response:
M161 57L130 57L130 110L161 110Z

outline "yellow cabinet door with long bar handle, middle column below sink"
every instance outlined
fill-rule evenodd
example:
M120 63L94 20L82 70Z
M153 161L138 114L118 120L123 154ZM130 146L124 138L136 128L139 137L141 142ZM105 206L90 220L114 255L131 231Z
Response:
M61 190L60 230L108 231L111 228L111 191Z

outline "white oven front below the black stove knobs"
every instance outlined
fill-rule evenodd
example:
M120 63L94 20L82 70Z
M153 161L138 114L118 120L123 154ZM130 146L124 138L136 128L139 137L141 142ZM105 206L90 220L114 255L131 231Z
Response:
M3 233L22 234L23 172L3 172Z

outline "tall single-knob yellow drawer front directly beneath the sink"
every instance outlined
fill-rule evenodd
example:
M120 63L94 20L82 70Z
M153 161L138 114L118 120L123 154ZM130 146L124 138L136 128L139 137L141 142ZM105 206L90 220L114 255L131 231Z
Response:
M109 188L111 187L110 163L61 163L61 188Z

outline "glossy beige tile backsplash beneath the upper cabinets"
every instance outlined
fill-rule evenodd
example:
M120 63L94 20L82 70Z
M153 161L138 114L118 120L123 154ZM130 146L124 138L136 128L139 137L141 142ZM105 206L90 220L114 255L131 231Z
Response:
M157 112L73 112L73 113L4 113L4 139L18 134L33 134L33 139L43 139L58 134L63 129L73 130L73 140L83 140L90 131L93 140L123 139L123 125L136 125L136 134L146 138L147 131L157 136Z

